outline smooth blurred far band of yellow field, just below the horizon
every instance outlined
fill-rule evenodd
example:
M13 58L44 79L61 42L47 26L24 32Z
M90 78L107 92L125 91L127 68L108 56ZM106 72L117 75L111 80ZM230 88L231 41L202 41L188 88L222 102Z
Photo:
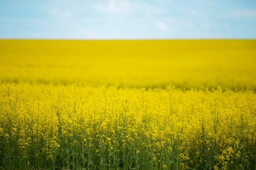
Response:
M256 88L256 40L0 40L0 81Z

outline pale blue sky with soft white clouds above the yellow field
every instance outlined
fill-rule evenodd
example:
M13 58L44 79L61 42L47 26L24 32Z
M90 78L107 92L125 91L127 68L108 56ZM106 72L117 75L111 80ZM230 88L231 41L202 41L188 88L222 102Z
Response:
M256 38L256 0L0 0L0 38Z

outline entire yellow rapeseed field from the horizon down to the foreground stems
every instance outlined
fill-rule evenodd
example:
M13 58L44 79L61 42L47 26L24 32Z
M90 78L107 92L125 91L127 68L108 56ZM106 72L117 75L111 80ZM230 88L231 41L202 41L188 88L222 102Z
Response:
M256 170L256 40L0 40L0 170Z

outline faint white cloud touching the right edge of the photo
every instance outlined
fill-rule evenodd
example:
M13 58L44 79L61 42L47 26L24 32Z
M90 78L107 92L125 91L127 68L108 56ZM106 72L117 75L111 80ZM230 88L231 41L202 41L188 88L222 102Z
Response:
M256 9L236 9L231 11L229 15L234 19L256 18Z

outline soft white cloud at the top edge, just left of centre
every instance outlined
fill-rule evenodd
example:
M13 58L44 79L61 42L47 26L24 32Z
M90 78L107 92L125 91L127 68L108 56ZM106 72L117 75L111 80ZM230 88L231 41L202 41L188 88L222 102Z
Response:
M107 3L100 3L95 6L97 11L110 14L129 14L130 3L126 0L109 0Z

